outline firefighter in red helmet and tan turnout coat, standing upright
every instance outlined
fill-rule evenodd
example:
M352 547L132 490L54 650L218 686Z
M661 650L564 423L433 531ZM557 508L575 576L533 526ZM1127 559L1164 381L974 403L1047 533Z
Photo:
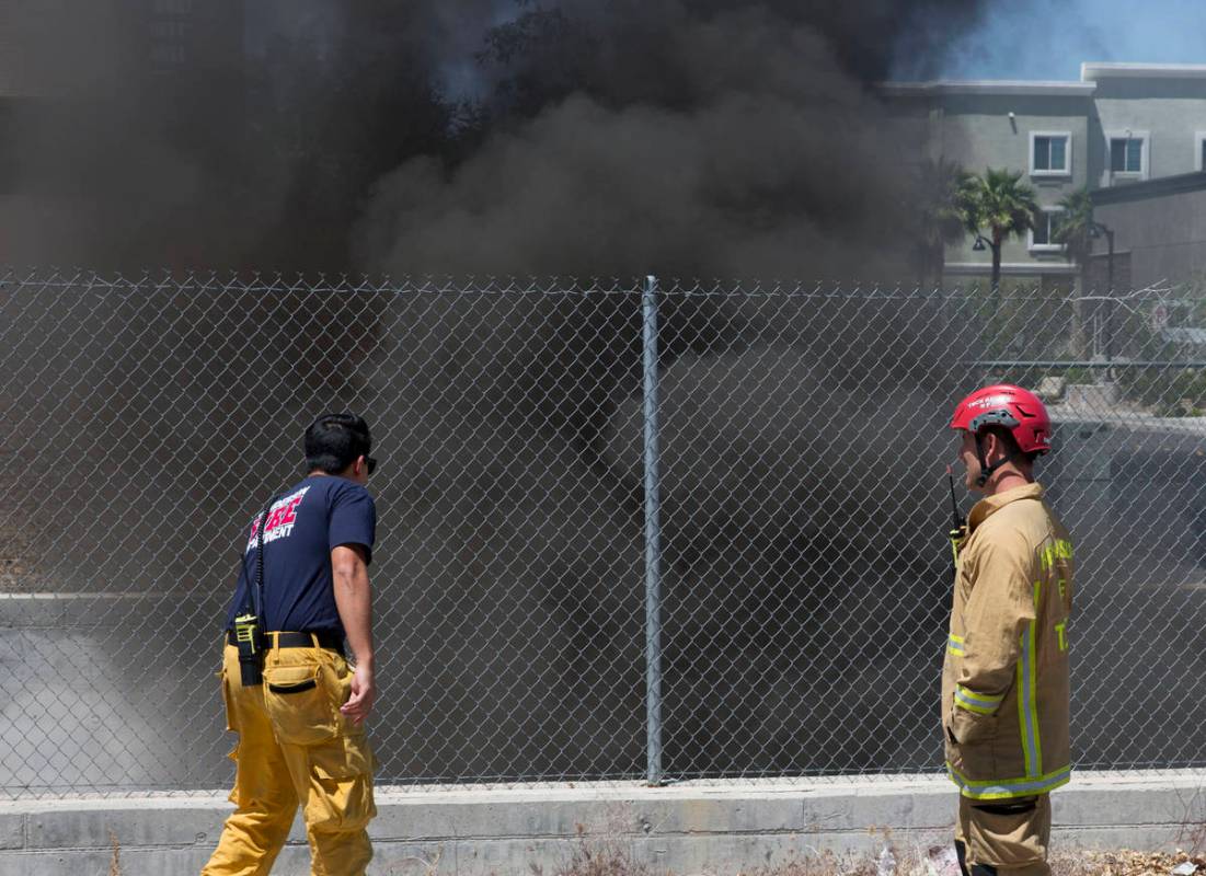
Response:
M966 486L984 495L956 539L942 671L947 770L959 786L964 874L1048 874L1049 792L1066 783L1072 545L1034 480L1050 421L1032 393L964 399Z

